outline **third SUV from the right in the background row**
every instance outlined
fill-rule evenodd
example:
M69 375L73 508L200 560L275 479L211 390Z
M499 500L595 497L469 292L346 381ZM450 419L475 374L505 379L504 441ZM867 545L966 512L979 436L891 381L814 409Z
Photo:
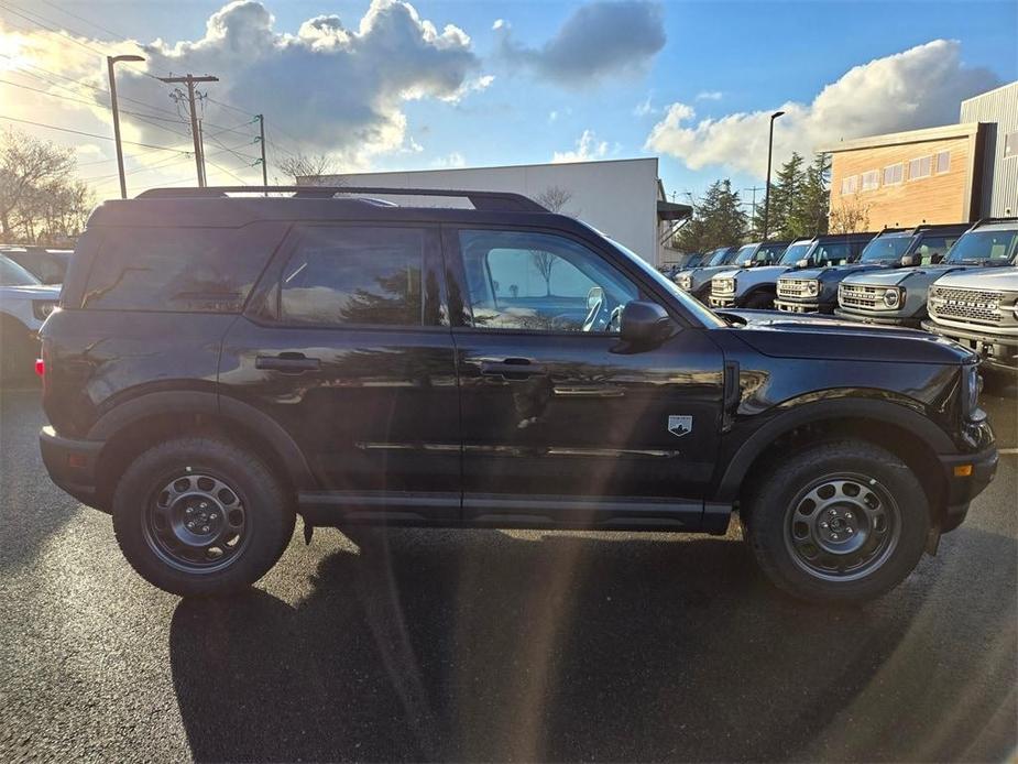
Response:
M868 271L939 263L967 229L967 223L954 223L880 231L856 261L821 265L778 279L779 307L796 313L834 313L842 280Z

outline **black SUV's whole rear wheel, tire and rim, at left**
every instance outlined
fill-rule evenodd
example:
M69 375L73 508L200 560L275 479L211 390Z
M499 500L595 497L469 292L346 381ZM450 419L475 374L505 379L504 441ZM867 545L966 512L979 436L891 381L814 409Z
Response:
M113 531L150 583L182 597L247 589L283 555L295 513L253 454L210 437L160 444L113 492Z

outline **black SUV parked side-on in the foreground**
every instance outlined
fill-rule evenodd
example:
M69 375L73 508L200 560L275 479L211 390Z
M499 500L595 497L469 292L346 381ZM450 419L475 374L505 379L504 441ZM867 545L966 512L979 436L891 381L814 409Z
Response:
M778 586L862 600L994 474L948 340L712 313L512 194L265 193L105 203L42 330L46 468L168 591L249 586L296 514L722 534L737 510Z

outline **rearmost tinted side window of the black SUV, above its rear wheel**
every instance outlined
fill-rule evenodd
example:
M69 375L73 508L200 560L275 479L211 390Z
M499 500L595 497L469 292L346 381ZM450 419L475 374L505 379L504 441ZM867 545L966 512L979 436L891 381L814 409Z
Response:
M240 313L282 234L263 225L109 229L83 307Z

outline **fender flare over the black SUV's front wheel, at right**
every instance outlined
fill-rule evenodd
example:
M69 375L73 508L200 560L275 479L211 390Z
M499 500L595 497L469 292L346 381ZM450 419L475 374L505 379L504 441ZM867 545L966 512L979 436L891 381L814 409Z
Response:
M901 403L878 399L844 397L792 404L791 407L759 427L738 447L729 460L718 483L715 500L735 501L753 462L780 436L803 425L846 418L889 423L928 444L934 454L957 452L957 446L948 433L915 408Z

